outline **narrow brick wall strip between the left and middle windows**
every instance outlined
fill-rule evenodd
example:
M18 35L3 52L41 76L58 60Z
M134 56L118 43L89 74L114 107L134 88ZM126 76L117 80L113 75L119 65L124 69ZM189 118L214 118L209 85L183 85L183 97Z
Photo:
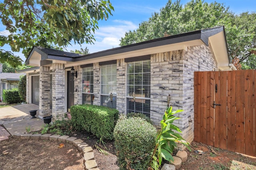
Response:
M93 94L94 94L94 105L100 106L100 65L99 63L93 63Z

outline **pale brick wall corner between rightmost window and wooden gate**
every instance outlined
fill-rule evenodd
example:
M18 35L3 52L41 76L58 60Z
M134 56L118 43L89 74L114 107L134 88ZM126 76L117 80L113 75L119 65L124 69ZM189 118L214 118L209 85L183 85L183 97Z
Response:
M159 125L167 107L167 96L173 109L183 109L174 123L182 130L182 137L194 139L194 71L217 70L215 57L206 45L188 47L151 55L150 118ZM199 62L198 62L199 61ZM198 67L199 66L199 67ZM189 120L192 120L190 123ZM178 145L183 149L182 145Z

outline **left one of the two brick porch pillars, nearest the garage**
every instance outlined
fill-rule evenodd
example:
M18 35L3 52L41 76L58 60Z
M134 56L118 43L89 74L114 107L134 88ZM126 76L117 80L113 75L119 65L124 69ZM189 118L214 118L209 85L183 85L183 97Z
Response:
M50 67L40 66L39 117L50 115Z

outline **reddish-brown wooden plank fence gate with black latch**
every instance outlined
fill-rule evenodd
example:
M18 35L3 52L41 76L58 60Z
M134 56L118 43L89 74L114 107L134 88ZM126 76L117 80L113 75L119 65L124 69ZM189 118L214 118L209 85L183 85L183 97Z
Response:
M194 73L194 141L256 156L256 70Z

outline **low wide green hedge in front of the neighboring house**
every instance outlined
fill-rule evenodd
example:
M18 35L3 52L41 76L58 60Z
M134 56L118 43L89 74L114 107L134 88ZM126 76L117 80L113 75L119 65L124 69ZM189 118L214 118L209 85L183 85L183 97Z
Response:
M3 90L3 101L8 104L20 103L18 88Z

